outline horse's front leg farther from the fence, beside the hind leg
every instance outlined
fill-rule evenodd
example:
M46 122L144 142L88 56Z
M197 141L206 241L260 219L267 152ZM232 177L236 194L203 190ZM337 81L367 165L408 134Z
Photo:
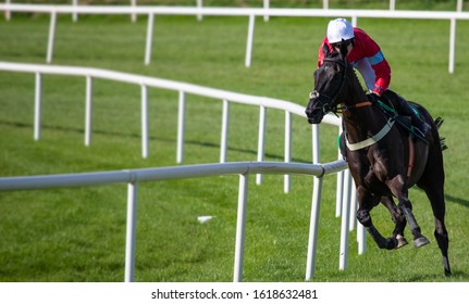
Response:
M420 226L417 224L417 219L414 216L412 213L412 205L408 199L408 188L406 186L406 182L402 176L396 176L388 182L388 187L393 194L398 200L398 207L403 212L404 216L406 217L407 221L409 223L410 231L414 235L414 245L416 248L425 245L430 243L429 239L427 239L421 230Z

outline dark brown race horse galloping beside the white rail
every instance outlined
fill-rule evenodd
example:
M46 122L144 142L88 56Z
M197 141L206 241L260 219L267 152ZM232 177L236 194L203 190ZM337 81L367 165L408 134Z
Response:
M443 256L446 276L451 275L448 261L448 233L445 227L444 139L439 135L443 123L435 121L420 104L410 102L430 125L431 135L417 138L411 128L399 124L398 112L390 115L377 100L368 98L347 62L347 50L331 51L324 46L323 64L314 72L314 90L310 93L306 115L310 124L320 124L330 112L342 112L346 142L345 157L357 189L357 219L365 226L380 249L397 249L407 244L404 228L407 223L414 235L416 248L429 243L412 213L408 189L417 185L432 205L435 219L434 237ZM397 96L390 91L388 96ZM380 98L386 99L386 98ZM390 99L387 107L398 102ZM393 103L394 102L394 103ZM407 101L405 101L407 102ZM398 203L394 203L396 198ZM370 211L383 203L395 223L393 236L384 238L374 227Z

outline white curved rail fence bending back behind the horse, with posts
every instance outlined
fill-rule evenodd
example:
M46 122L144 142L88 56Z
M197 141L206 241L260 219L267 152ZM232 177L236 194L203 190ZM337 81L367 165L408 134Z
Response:
M141 141L143 141L143 155L148 155L148 98L147 87L156 87L175 90L180 92L178 98L178 130L177 130L177 152L176 160L178 163L182 162L183 147L184 147L184 117L185 117L185 96L186 93L200 94L209 98L223 100L223 113L222 113L222 138L221 138L221 153L220 162L225 163L226 149L227 149L227 121L230 102L238 102L250 105L258 105L260 107L259 117L259 142L258 142L258 162L257 163L244 163L244 164L223 164L220 165L200 165L200 166L181 166L175 168L160 168L160 169L147 169L147 170L125 170L120 173L92 173L85 175L60 175L49 177L18 177L18 178L2 178L0 179L0 190L20 190L20 189L33 189L33 188L48 188L48 187L73 187L73 186L90 186L96 183L110 183L110 182L124 182L129 183L128 188L128 200L136 200L136 181L147 180L148 178L156 180L163 178L183 178L183 177L197 177L207 175L220 175L220 174L247 174L257 173L257 183L261 182L262 173L276 173L285 174L285 186L284 191L289 191L289 174L310 174L316 175L313 179L313 198L311 207L311 226L310 226L310 240L308 246L308 259L306 279L310 279L313 276L314 263L316 263L316 235L317 235L317 223L319 217L319 202L321 200L322 179L324 174L337 172L337 188L336 188L336 216L342 215L342 233L341 233L341 249L340 249L340 269L347 268L347 254L348 254L348 231L354 229L356 219L355 214L350 210L356 210L356 195L354 187L351 187L351 178L346 168L346 163L343 161L336 161L334 163L321 165L319 164L319 127L312 125L312 162L311 164L293 164L291 163L291 139L292 139L292 123L291 115L296 114L305 117L304 106L298 104L276 100L264 97L246 96L230 91L217 90L212 88L206 88L195 86L190 84L171 81L165 79L118 73L112 71L99 69L99 68L86 68L86 67L71 67L71 66L53 66L53 65L39 65L39 64L23 64L23 63L7 63L0 62L0 71L10 72L23 72L33 73L36 78L35 87L35 123L34 123L34 137L36 140L40 138L40 112L42 104L41 93L41 75L42 74L57 74L57 75L70 75L70 76L84 76L86 77L86 111L85 111L85 144L90 143L91 138L91 116L92 116L92 78L104 78L116 81L124 81L135 84L141 87ZM285 111L285 163L264 163L263 161L263 142L264 142L264 130L266 130L266 109L272 107ZM333 115L326 115L324 123L340 126L340 118ZM340 129L340 128L338 128ZM341 129L340 129L341 131ZM232 170L235 167L234 172ZM150 177L148 177L150 176ZM244 190L247 189L247 181L239 186L239 192L246 193ZM246 199L246 194L244 197ZM245 200L244 199L244 200ZM244 204L244 203L243 203ZM135 224L132 224L135 219L135 211L133 208L135 204L129 203L128 211L128 228L127 231L127 262L126 262L126 280L133 279L133 265L134 257L133 251L135 246ZM244 208L243 208L244 210ZM238 215L239 217L240 215ZM240 224L238 224L240 225ZM359 253L365 251L365 233L362 233L361 226L357 229L357 237L359 240ZM239 228L240 229L240 228ZM132 235L134 233L134 235ZM237 243L240 242L237 239ZM239 244L238 244L239 245ZM238 246L237 245L237 246ZM236 250L237 264L235 265L235 280L240 280L239 265L239 249ZM240 256L242 258L242 256Z

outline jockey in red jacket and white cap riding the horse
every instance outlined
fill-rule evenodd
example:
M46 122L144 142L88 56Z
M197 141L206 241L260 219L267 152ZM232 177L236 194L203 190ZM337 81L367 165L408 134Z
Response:
M322 65L324 53L323 45L328 45L331 51L340 51L340 46L346 43L349 63L357 68L363 77L367 88L371 92L373 100L384 93L391 83L391 67L384 58L380 47L362 29L353 27L345 18L336 18L329 22L328 35L321 43L318 53L318 67ZM430 136L430 125L422 121L419 114L406 102L399 98L400 113L411 117L412 125L417 127L423 138Z

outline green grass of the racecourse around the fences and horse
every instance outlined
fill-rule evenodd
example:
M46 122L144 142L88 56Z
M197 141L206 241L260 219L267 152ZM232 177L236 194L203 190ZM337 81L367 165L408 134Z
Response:
M267 96L306 104L317 48L326 18L271 18L256 24L252 66L244 66L245 17L158 16L151 64L144 65L146 18L60 16L53 64L97 66ZM45 63L46 15L0 20L2 61ZM350 233L349 263L338 270L341 219L335 218L335 176L324 178L314 281L469 281L469 194L466 183L464 88L469 77L469 23L457 24L456 71L447 73L448 22L359 20L393 67L392 87L443 116L447 228L454 276L445 278L434 223L423 192L410 199L432 243L381 251L367 238L357 254ZM431 33L429 34L429 28ZM94 134L84 147L85 79L44 76L42 134L33 140L34 75L0 72L0 175L115 170L175 165L177 93L150 89L150 155L140 156L139 87L94 83ZM221 101L187 97L185 164L219 160ZM269 110L267 159L283 159L283 116ZM232 105L229 161L257 154L258 109ZM252 124L254 122L254 124ZM310 126L293 119L293 159L311 160ZM333 127L321 126L322 161L336 157ZM245 281L303 281L312 178L250 177ZM231 281L238 178L210 177L145 182L138 189L137 281ZM0 193L0 281L122 281L126 186ZM200 225L199 215L215 216ZM384 235L393 225L383 207L372 212Z

